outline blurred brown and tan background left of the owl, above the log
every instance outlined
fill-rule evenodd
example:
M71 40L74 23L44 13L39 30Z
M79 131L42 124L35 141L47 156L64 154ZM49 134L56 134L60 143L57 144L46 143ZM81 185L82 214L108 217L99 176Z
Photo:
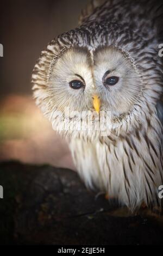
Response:
M41 50L78 26L87 0L1 1L0 161L48 163L73 169L64 139L32 99L30 78Z

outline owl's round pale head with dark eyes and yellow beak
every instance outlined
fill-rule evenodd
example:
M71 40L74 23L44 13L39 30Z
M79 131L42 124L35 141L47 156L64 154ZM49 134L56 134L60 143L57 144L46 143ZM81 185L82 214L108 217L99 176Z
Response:
M65 135L126 132L132 119L134 126L141 119L137 108L145 101L145 83L139 69L128 51L102 35L97 40L77 29L53 40L42 51L32 82L37 105ZM102 129L95 121L102 121Z

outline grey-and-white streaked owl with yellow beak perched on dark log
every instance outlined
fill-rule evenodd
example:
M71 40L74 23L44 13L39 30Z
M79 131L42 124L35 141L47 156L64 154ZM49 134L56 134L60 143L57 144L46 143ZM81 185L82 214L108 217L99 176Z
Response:
M161 207L162 13L161 1L92 1L32 74L36 105L85 185L132 211Z

